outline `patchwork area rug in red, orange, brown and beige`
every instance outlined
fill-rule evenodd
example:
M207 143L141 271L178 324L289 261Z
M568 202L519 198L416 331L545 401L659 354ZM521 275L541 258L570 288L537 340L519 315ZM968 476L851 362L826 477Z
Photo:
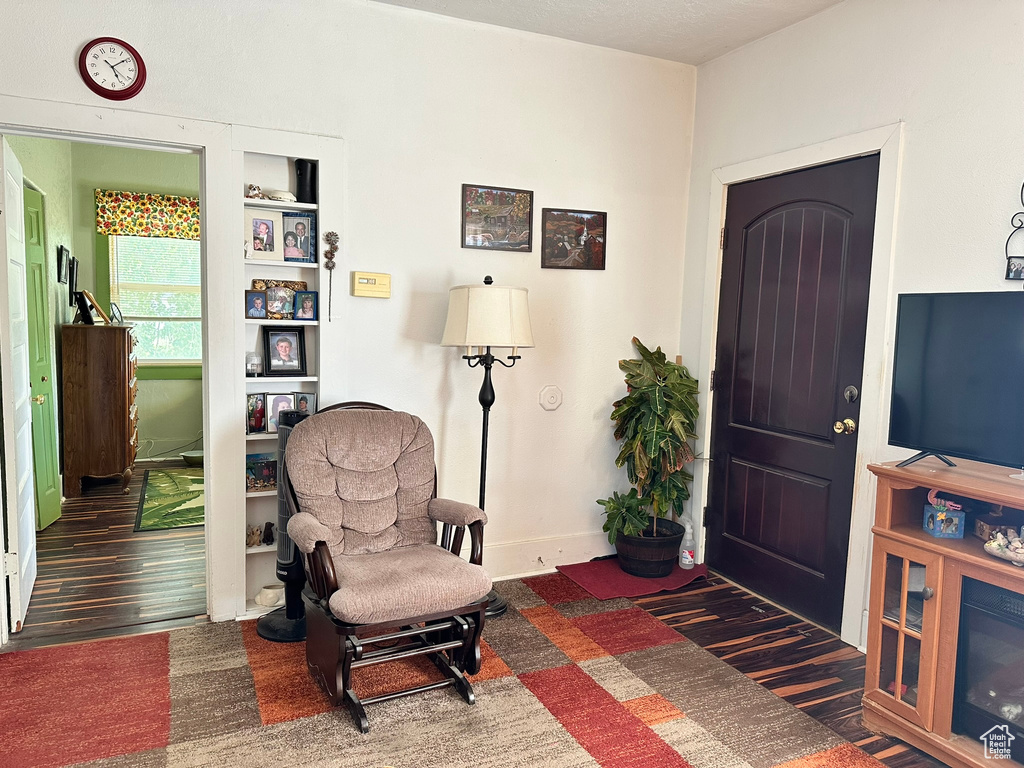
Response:
M368 734L328 707L301 643L252 622L0 654L3 764L881 765L628 600L561 573L496 588L511 607L484 628L476 703L444 689L372 705ZM358 673L360 695L439 675L422 658Z

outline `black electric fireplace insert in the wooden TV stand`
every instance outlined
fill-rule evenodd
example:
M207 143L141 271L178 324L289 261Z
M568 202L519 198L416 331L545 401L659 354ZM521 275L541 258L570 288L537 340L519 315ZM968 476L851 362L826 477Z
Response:
M962 594L953 731L1008 730L1024 763L1024 595L968 578Z

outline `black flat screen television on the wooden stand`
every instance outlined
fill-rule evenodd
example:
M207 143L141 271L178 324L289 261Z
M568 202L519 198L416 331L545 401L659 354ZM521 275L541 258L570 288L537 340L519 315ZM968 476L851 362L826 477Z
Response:
M889 444L1024 468L1024 292L899 297Z

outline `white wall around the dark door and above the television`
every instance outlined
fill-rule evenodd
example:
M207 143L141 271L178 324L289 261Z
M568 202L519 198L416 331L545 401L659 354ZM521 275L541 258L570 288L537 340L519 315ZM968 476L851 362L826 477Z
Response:
M698 69L687 220L681 344L710 362L709 190L716 168L903 121L895 257L888 293L870 302L886 318L865 359L881 392L876 439L858 444L860 466L903 458L886 444L888 372L896 294L1019 290L1004 280L1010 217L1024 178L1024 5L1016 0L848 0ZM888 259L889 254L874 258ZM872 291L873 291L872 286ZM717 290L717 289L716 289ZM703 404L703 403L702 403ZM707 407L705 404L705 411ZM699 446L707 451L707 446ZM844 638L856 641L864 600L873 482L858 473ZM694 507L703 505L694 500Z

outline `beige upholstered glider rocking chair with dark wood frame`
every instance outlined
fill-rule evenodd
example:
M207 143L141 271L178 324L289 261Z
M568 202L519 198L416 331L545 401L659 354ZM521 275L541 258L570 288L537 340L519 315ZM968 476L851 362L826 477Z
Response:
M454 686L480 669L490 577L480 565L486 517L435 494L434 444L415 416L343 403L293 430L282 481L294 506L288 535L308 587L306 663L359 730L364 705ZM372 410L376 408L377 410ZM436 523L442 523L438 546ZM469 528L469 562L459 556ZM360 700L352 670L426 654L444 679Z

